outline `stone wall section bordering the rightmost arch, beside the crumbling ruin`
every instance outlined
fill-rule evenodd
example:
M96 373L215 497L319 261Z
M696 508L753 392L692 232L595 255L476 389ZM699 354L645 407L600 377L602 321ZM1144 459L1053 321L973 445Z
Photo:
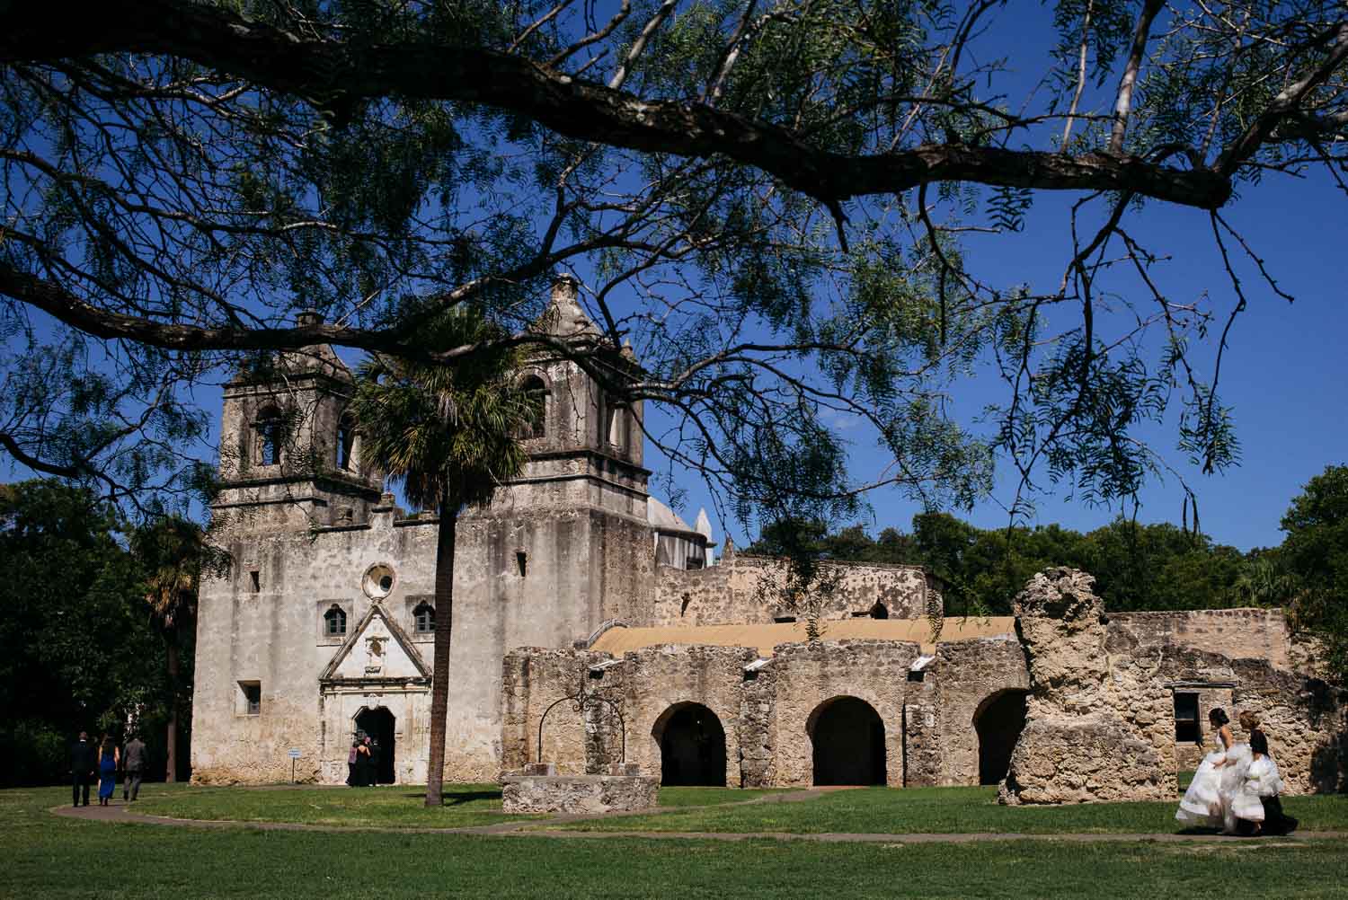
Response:
M938 691L940 771L936 784L979 783L979 733L984 705L1008 690L1029 690L1024 651L1014 635L937 644L927 679ZM911 767L910 767L911 768Z

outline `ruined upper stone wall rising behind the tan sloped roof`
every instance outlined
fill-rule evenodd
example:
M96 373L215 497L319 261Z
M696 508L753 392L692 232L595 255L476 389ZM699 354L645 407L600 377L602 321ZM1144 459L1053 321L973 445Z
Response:
M891 618L922 618L929 598L921 566L833 563L841 578L829 598L825 618L868 614L876 602ZM679 570L661 567L655 575L652 625L731 625L771 622L799 610L780 609L760 585L785 582L786 562L768 556L728 555L720 566ZM934 590L931 597L938 597Z

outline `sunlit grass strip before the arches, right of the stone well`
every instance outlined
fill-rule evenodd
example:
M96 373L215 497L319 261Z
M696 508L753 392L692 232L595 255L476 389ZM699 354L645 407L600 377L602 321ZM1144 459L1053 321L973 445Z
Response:
M1289 815L1306 831L1348 830L1348 796L1287 798ZM568 829L585 831L790 831L818 834L1124 834L1175 833L1177 803L1084 803L1060 807L1006 807L996 788L859 788L824 794L803 803L704 807L662 815L586 819ZM542 826L539 826L542 827Z

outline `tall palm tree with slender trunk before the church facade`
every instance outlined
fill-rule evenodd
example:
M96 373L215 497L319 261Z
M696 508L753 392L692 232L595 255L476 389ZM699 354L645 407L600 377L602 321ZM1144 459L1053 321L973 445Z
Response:
M458 515L465 507L487 504L499 485L520 474L527 459L520 435L530 432L538 414L516 379L524 357L500 346L504 335L476 310L454 310L426 329L427 346L488 349L453 365L375 356L360 366L352 401L361 461L402 481L408 503L439 513L426 806L443 803Z

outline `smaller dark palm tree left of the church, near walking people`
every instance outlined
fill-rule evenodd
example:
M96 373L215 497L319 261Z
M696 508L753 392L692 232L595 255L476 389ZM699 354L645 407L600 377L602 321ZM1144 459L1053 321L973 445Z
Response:
M178 777L179 637L197 617L197 589L204 570L226 565L224 551L206 543L205 529L178 516L156 519L131 535L131 551L144 573L150 616L164 639L168 659L167 781Z

